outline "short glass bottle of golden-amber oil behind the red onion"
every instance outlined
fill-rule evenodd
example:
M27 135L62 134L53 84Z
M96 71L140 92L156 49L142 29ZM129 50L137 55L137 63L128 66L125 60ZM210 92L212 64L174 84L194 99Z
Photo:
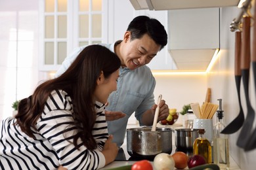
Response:
M199 137L194 141L193 154L203 156L206 163L211 163L211 143L204 137L205 129L198 129Z

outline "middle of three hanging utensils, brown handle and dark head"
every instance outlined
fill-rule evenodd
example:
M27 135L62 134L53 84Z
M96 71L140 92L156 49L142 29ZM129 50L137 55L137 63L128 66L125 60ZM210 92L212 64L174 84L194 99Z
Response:
M250 66L250 20L251 17L245 16L243 20L243 30L242 30L242 54L241 54L241 69L242 69L242 80L244 83L244 93L247 107L247 116L245 118L243 127L238 136L238 141L236 145L240 148L244 148L247 144L248 139L250 139L251 128L253 126L253 120L255 117L255 112L251 107L249 101L249 66Z

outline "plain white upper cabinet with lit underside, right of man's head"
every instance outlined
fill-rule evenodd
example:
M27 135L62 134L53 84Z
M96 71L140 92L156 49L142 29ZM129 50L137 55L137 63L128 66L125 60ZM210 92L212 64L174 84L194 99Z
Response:
M220 48L219 19L219 8L168 11L168 48L179 69L207 69Z

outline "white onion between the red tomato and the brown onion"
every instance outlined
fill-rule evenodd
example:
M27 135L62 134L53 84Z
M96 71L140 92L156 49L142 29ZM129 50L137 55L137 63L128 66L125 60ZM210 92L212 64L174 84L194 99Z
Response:
M156 170L173 170L175 162L173 157L166 153L160 153L154 158L154 167Z

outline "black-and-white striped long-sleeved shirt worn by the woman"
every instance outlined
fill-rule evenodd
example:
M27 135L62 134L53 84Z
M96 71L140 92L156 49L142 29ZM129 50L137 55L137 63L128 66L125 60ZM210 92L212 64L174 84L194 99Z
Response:
M77 133L70 122L73 105L70 96L62 91L53 91L45 104L41 117L33 129L35 139L14 126L16 119L10 117L0 124L0 169L57 169L60 165L67 169L99 169L104 167L102 152L108 139L108 129L104 105L95 103L96 122L93 137L97 148L90 151L77 140L79 150L72 143ZM66 140L68 139L68 140Z

